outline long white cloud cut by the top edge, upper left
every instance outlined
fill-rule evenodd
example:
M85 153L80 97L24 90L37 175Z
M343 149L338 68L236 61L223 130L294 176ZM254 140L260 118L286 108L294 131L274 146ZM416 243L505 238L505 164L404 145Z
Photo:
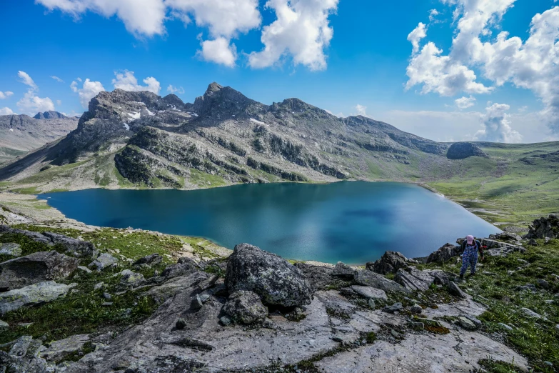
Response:
M86 11L107 18L117 16L136 36L165 34L166 4L163 0L36 0L36 3L49 10L59 9L76 19Z

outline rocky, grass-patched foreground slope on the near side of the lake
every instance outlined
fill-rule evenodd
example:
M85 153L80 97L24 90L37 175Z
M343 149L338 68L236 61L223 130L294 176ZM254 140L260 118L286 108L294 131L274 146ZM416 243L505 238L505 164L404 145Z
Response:
M468 282L457 279L453 244L426 258L386 252L363 268L291 264L249 244L215 254L163 235L103 232L0 226L0 372L559 367L556 255L543 254L559 247L553 215L524 238L483 239L488 260ZM494 299L485 297L490 287L500 287ZM520 307L528 301L534 307ZM498 319L505 304L508 319ZM531 347L547 347L523 346L523 334Z

